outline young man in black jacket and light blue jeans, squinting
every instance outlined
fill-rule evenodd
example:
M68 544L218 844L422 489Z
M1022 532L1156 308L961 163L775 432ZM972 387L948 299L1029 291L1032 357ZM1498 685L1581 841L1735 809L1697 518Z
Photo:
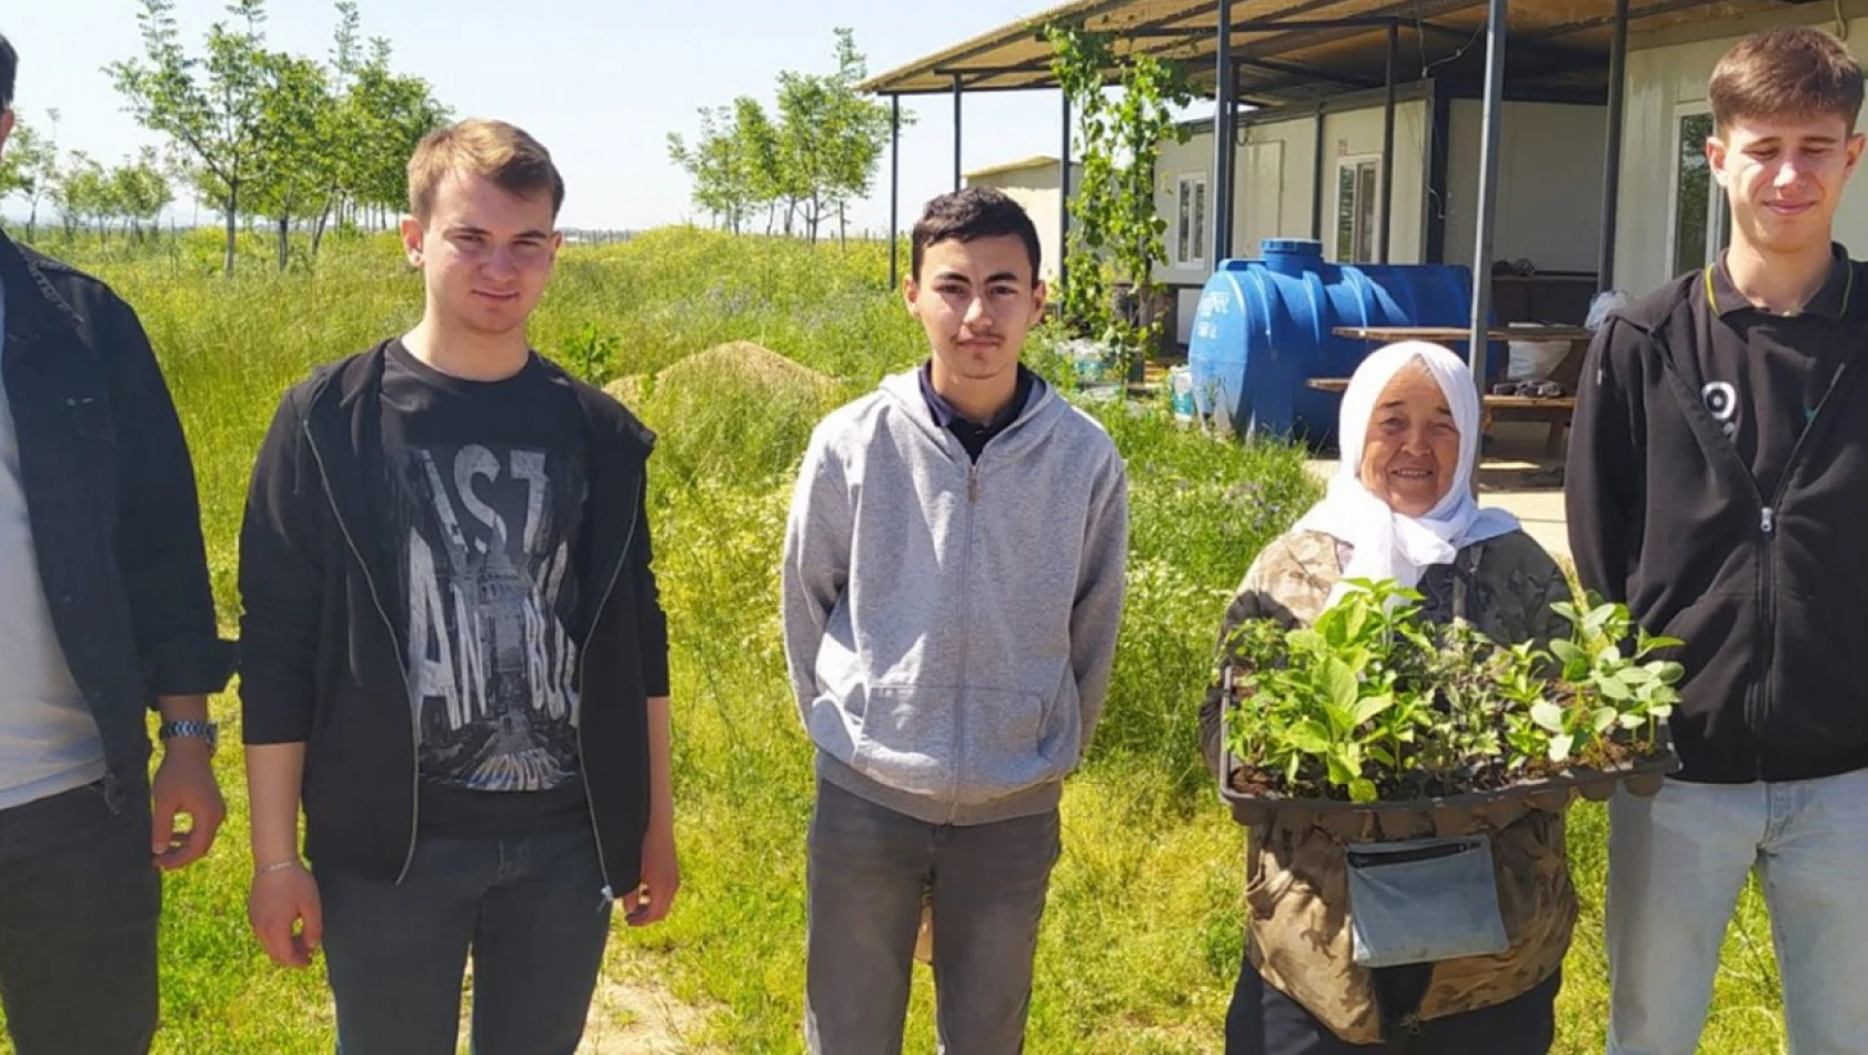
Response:
M1862 69L1776 28L1717 65L1732 245L1612 317L1569 452L1582 584L1683 639L1681 769L1618 795L1610 1055L1691 1055L1758 872L1790 1051L1868 1051L1868 269L1833 243Z

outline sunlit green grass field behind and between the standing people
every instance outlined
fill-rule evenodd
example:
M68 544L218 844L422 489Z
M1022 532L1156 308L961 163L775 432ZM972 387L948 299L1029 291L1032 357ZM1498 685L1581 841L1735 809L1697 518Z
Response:
M196 457L215 596L232 633L234 558L252 456L278 394L316 364L411 325L418 278L385 239L336 241L316 271L263 267L228 284L213 237L138 258L49 252L110 280L142 314ZM656 549L674 639L674 788L684 891L669 922L618 926L613 969L652 973L704 1014L697 1049L798 1051L803 988L803 831L809 745L788 698L777 622L786 485L813 422L887 370L915 362L919 331L882 293L884 250L809 248L656 232L572 248L534 344L601 377L635 377L661 433L652 461ZM833 379L764 385L669 372L730 340L758 342ZM1065 795L1031 1008L1033 1053L1220 1051L1240 954L1242 853L1199 762L1196 708L1233 584L1315 495L1295 452L1175 428L1160 407L1100 411L1132 476L1130 601L1113 696L1087 767ZM215 704L237 743L237 702ZM202 865L166 887L159 1051L329 1051L318 969L269 965L245 922L247 810L239 751L222 751L232 816ZM1584 921L1567 965L1558 1051L1601 1051L1605 820L1578 807L1573 870ZM1756 891L1728 941L1704 1051L1780 1049L1776 971ZM910 1051L932 1051L919 978ZM4 1049L4 1042L0 1042Z

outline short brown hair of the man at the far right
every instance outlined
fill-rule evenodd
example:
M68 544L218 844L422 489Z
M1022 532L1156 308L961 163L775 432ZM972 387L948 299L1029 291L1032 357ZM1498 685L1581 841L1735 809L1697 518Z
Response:
M1836 37L1812 26L1760 30L1726 52L1705 88L1722 133L1741 120L1836 116L1855 129L1862 67Z

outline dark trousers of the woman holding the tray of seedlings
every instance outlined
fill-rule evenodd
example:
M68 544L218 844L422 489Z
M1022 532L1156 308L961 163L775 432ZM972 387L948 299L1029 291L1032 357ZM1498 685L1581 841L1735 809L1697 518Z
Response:
M1384 999L1405 997L1412 1006L1425 993L1427 971L1425 964L1386 967L1377 984ZM1562 977L1502 1005L1422 1021L1418 1031L1395 1027L1388 1044L1349 1044L1244 960L1225 1014L1225 1055L1545 1055L1556 1042Z

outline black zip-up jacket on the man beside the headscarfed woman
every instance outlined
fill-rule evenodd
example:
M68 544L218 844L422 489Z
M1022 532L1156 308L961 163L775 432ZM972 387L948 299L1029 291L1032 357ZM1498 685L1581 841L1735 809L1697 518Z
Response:
M1868 364L1855 351L1868 297L1844 308L1836 325L1861 338L1762 493L1696 387L1715 340L1705 291L1705 274L1681 276L1595 334L1569 446L1577 571L1685 640L1681 779L1868 767Z

